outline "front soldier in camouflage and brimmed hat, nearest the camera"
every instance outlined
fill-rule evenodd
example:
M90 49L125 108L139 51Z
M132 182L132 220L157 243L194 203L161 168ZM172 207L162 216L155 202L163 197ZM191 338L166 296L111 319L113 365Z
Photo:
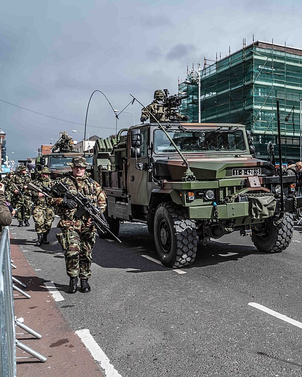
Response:
M69 164L72 172L61 179L71 193L82 193L85 197L90 198L95 206L99 206L102 211L106 207L106 194L102 187L86 174L86 168L89 164L84 157L73 157ZM90 292L88 279L91 277L92 249L96 241L96 227L93 221L87 215L78 218L75 217L77 212L77 203L72 199L51 198L51 205L57 206L58 214L61 220L58 227L61 233L57 238L65 250L66 272L70 278L69 293L75 293L78 290L78 276L81 279L82 292Z

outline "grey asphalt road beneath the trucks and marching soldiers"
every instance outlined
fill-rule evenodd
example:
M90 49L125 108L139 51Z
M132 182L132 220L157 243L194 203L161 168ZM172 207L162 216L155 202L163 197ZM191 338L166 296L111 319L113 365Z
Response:
M72 329L89 329L122 377L302 376L302 329L249 305L302 322L302 227L278 254L258 252L237 233L210 241L179 274L142 257L157 259L153 237L125 223L122 244L97 237L92 291L70 295L57 228L50 245L36 247L30 223L13 221L12 242L54 282Z

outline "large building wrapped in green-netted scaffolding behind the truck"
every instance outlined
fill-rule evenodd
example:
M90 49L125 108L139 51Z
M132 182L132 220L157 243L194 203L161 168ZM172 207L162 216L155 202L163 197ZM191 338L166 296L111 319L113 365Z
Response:
M188 94L181 112L197 122L198 70L193 73L179 92ZM277 144L279 100L282 155L300 159L302 50L257 41L213 64L205 60L199 74L201 122L246 124L256 154L267 157L267 143Z

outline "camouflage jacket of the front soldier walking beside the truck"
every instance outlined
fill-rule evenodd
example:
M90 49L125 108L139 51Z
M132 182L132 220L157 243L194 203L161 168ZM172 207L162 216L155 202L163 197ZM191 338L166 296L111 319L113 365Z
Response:
M99 183L88 177L87 174L84 174L83 177L74 177L72 173L69 173L60 181L68 187L70 193L77 194L77 192L80 192L85 197L89 198L94 206L99 206L102 212L105 211L106 194ZM59 228L74 229L76 231L83 231L85 229L90 231L96 230L94 226L91 228L87 228L86 226L89 215L85 214L80 218L75 217L74 215L77 212L77 208L70 210L64 207L62 205L63 199L64 198L48 199L50 205L58 208L58 215L61 218L57 225Z

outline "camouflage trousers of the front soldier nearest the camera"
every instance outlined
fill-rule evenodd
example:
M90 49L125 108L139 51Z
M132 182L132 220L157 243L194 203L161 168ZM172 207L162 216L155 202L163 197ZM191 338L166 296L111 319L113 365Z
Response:
M91 230L77 232L69 229L62 229L62 233L66 242L64 256L67 275L71 278L79 275L80 279L89 279L96 233Z

